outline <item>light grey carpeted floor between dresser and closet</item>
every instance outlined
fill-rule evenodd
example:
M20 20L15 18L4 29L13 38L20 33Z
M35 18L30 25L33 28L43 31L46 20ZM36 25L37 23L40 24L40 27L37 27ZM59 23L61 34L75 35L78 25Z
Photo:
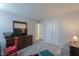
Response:
M39 42L29 46L29 47L26 47L26 48L18 51L18 55L19 56L35 55L43 50L49 50L55 56L61 56L61 55L67 56L68 55L67 51L64 51L64 53L62 53L62 51L59 47L54 46L54 45L49 44L49 43L42 42L42 41L39 41Z

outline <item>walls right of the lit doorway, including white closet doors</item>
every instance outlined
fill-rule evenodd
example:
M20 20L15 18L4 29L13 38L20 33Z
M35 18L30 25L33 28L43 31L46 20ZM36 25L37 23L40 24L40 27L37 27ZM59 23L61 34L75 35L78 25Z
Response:
M44 17L41 20L41 27L41 39L59 46L61 53L69 55L69 40L74 35L79 37L79 11L55 17Z

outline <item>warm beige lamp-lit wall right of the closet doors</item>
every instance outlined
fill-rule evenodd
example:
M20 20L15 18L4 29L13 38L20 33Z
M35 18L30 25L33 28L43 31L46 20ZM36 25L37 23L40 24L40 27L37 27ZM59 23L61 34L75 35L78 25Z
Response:
M65 47L65 44L72 39L73 35L79 37L79 12L75 11L60 15L58 19L61 24L61 44Z

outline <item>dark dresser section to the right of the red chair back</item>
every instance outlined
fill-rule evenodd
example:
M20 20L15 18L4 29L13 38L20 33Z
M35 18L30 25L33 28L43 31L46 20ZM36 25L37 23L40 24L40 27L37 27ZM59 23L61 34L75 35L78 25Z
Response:
M21 36L20 37L20 42L18 44L18 50L23 49L25 47L28 47L28 46L32 45L32 43L33 43L32 35Z

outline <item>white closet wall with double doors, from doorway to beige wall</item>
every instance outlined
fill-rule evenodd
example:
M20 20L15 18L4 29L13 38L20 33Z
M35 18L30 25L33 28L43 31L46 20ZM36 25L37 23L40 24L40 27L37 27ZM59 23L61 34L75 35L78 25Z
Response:
M56 19L43 20L41 22L41 37L42 40L51 43L54 45L59 45L60 41L60 31L59 31L59 22Z

